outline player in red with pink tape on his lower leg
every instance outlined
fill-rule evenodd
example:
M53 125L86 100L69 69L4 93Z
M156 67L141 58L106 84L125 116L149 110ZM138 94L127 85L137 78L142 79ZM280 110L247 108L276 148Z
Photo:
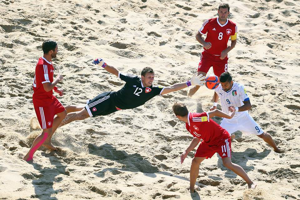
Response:
M53 40L46 40L42 44L42 50L44 55L38 59L35 68L32 95L34 110L42 128L42 133L35 138L28 153L24 156L23 160L26 161L32 160L33 154L42 145L51 150L56 150L51 144L52 126L58 127L67 115L67 111L52 92L54 90L60 96L63 96L63 90L56 87L56 84L63 79L62 75L58 74L53 81L54 68L51 59L56 58L57 43ZM55 115L56 117L54 117Z

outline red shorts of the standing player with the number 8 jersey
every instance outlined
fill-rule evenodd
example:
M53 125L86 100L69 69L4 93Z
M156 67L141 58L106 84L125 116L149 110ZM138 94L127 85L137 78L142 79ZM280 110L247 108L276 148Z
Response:
M200 61L198 65L197 72L205 72L207 73L210 67L212 66L213 73L220 77L223 72L228 71L228 57L223 60L220 59L220 56L215 56L206 51L203 51L200 54Z

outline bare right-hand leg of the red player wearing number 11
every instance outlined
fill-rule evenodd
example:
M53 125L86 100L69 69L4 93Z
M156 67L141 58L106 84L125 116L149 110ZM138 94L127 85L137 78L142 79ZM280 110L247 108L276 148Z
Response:
M246 181L246 183L248 184L248 188L255 188L256 184L253 183L253 181L251 181L251 179L248 177L247 173L244 171L244 169L231 162L231 158L226 157L226 158L222 158L223 161L223 165L230 169L231 171L233 171L234 173L236 173L238 176L242 177L242 179L244 179Z

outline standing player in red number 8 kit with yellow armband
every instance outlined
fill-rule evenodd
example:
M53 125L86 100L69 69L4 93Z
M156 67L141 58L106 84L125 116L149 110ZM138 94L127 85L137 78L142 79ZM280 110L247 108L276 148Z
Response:
M208 70L212 67L213 73L220 77L223 72L228 70L227 54L237 43L237 26L228 20L229 15L228 3L219 5L219 17L206 20L196 34L196 39L203 45L204 51L200 55L198 65L198 75L206 76ZM202 35L206 34L205 40ZM227 42L231 39L231 45L227 47ZM188 92L191 97L197 92L199 86L195 86Z

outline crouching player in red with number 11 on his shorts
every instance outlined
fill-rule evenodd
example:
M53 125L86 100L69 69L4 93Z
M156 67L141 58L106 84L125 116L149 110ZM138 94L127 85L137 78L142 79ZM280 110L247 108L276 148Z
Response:
M231 108L229 114L223 113L220 110L213 111L189 113L185 105L181 103L175 103L173 105L173 112L176 117L186 123L188 132L194 136L188 148L180 156L181 163L183 163L187 154L193 150L200 142L200 139L202 139L192 160L190 170L190 192L194 192L200 163L205 158L211 158L216 152L221 156L223 165L226 168L242 177L247 182L248 188L255 188L256 184L251 181L243 168L231 162L231 139L229 133L210 119L214 116L230 119L234 116L235 109Z

